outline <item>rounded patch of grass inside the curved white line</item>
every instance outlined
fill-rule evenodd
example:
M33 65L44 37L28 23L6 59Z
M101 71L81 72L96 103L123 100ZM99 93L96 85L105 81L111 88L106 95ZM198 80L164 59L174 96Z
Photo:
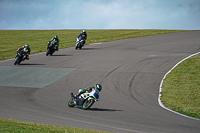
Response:
M200 55L173 69L163 82L161 100L176 112L200 118Z

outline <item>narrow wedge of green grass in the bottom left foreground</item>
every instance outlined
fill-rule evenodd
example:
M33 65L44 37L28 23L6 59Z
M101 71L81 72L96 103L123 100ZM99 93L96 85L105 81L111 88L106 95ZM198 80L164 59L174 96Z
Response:
M107 133L73 127L61 127L0 118L1 133Z

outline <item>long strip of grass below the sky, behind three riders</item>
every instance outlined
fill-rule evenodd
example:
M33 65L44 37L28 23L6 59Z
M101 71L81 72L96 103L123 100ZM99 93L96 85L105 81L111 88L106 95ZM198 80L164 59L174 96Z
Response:
M74 47L82 30L0 30L0 61L14 58L16 50L28 43L31 54L45 52L47 42L58 35L59 48ZM86 44L127 38L184 32L186 30L87 30Z

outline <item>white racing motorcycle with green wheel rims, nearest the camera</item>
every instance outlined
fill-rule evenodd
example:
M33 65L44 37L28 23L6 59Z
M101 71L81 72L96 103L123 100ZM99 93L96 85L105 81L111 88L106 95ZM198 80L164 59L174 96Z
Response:
M79 97L75 98L74 94L71 93L71 100L68 102L69 107L77 106L81 109L89 109L94 102L99 100L98 90L93 89L91 92L86 91L81 94Z

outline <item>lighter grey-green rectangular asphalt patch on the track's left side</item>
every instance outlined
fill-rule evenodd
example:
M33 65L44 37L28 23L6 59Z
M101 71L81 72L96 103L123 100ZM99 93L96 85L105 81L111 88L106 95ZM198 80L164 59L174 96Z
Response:
M0 66L0 86L43 88L74 70L76 69Z

